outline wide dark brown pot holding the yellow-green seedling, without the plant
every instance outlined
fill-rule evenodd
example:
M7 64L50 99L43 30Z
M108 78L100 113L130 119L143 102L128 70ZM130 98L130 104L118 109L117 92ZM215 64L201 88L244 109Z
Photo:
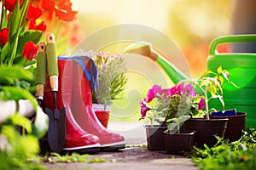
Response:
M184 122L183 128L197 131L195 135L195 144L197 147L203 148L204 144L207 144L208 147L212 147L218 141L214 135L224 137L228 121L228 118L210 120L195 118Z

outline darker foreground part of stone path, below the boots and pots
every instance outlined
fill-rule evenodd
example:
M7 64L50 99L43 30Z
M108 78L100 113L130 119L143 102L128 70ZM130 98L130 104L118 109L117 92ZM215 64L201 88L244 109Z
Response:
M98 163L44 163L48 169L120 169L120 170L159 170L178 169L196 170L195 164L185 156L167 155L161 151L149 151L147 148L126 148L117 152L100 152L90 156L88 159L103 158L107 162Z

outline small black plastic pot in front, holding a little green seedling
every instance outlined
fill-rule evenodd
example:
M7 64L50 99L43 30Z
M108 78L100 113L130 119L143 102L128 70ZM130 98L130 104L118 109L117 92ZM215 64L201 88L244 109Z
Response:
M167 154L183 154L192 150L195 144L195 130L181 129L180 133L164 132L165 148Z

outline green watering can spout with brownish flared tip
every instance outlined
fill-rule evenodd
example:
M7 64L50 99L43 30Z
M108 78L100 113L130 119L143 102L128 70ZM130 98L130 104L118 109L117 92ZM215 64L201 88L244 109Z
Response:
M151 46L152 45L149 42L132 43L130 46L125 48L123 54L140 54L148 57L149 59L153 59L166 72L167 76L170 77L173 83L189 79L189 77L185 76L182 71L179 71L177 67L172 65L172 63L167 59L158 54L155 54L151 50Z

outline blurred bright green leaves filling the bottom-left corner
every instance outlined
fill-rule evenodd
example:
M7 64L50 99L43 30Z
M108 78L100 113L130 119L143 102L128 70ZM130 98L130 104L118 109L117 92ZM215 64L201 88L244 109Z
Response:
M17 126L22 127L26 135L20 135ZM17 114L1 126L0 169L44 169L38 156L38 139L31 132L31 123Z

